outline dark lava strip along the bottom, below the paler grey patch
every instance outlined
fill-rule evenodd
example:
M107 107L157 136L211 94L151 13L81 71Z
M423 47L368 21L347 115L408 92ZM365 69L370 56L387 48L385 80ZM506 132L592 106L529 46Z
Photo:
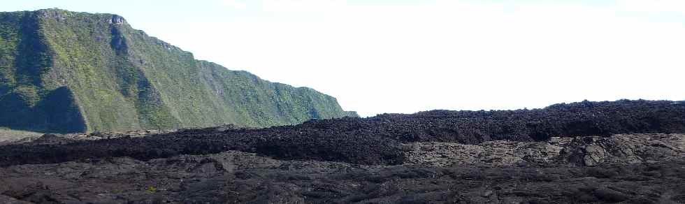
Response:
M662 158L665 159L665 158ZM563 160L559 160L560 162ZM682 203L685 160L596 167L364 166L245 152L0 168L0 201L36 203ZM10 196L3 198L1 195Z

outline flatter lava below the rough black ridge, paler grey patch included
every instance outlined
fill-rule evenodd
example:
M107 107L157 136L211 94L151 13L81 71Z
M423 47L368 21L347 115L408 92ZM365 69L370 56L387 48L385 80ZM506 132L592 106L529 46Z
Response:
M683 203L685 135L407 143L400 165L256 153L0 168L3 203Z

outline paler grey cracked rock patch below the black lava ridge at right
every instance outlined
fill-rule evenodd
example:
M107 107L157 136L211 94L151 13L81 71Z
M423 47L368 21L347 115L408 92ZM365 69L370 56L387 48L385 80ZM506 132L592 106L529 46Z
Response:
M456 143L403 144L405 163L431 166L491 164L493 166L570 163L637 163L685 156L684 134L630 134L610 137L550 138L546 141L488 141L479 145Z

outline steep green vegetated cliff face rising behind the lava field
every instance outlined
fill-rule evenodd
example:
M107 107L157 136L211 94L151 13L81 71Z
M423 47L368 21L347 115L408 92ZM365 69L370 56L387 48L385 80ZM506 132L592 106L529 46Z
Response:
M0 126L64 133L345 116L356 113L331 96L196 60L118 15L0 13Z

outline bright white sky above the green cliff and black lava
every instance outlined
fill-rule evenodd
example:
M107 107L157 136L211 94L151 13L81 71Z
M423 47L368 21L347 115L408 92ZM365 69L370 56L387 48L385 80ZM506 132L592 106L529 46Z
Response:
M116 13L197 59L361 116L685 100L682 0L3 1Z

